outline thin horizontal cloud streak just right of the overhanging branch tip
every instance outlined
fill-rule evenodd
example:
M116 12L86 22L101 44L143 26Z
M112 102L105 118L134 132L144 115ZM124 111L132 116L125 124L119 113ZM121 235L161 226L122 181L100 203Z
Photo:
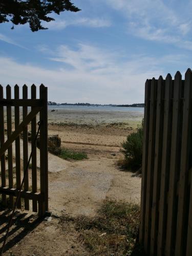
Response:
M46 24L49 29L52 30L61 30L65 29L68 26L83 26L83 27L91 27L91 28L102 28L102 27L110 27L111 21L106 18L88 18L81 17L75 19L56 19L51 23Z

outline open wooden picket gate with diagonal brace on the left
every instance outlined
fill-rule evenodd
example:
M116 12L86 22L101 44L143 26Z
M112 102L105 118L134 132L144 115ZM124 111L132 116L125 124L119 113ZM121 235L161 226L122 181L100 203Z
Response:
M2 194L2 204L9 208L13 208L15 197L18 195L20 188L22 176L27 167L31 148L34 147L30 173L28 169L24 181L24 188L20 194L21 199L18 202L17 208L24 207L26 210L29 210L29 200L32 200L32 210L34 212L38 211L39 216L43 216L48 210L47 87L41 84L39 87L39 99L36 99L36 86L34 84L31 86L31 99L28 99L28 87L26 85L23 86L22 99L19 99L19 87L17 85L14 87L14 98L11 96L11 87L8 85L6 87L6 99L4 99L4 89L0 85L0 195ZM30 112L28 112L29 108ZM20 111L22 111L22 114L20 114ZM37 148L35 142L37 132L36 116L38 113L40 120L39 171L37 170ZM7 135L5 134L6 123ZM31 126L31 148L28 149L29 125ZM23 133L23 141L20 138L21 133ZM22 142L23 149L21 150L20 144ZM15 150L14 158L13 150ZM6 152L8 163L6 163L5 158ZM13 166L13 163L15 167ZM6 168L7 165L8 169ZM31 186L29 181L31 181ZM38 181L40 183L39 187L37 187Z

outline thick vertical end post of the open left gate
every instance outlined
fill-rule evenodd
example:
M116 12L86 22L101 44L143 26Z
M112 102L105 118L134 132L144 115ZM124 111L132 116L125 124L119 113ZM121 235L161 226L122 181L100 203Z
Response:
M41 84L39 88L40 99L44 106L40 111L40 193L45 195L45 200L41 201L39 215L45 215L48 210L48 117L47 117L47 87Z

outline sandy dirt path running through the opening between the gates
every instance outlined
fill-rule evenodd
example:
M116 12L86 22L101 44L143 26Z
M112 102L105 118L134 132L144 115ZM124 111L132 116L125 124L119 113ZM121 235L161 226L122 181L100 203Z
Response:
M50 210L72 216L93 216L106 197L135 201L140 199L140 183L132 173L115 165L116 158L90 158L57 174L50 174Z

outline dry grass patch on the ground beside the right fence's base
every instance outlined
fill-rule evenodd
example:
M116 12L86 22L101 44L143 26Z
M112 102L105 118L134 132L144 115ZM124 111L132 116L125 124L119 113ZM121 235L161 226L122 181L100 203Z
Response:
M96 217L63 216L60 224L74 223L89 255L144 255L136 243L139 218L139 205L105 200Z

